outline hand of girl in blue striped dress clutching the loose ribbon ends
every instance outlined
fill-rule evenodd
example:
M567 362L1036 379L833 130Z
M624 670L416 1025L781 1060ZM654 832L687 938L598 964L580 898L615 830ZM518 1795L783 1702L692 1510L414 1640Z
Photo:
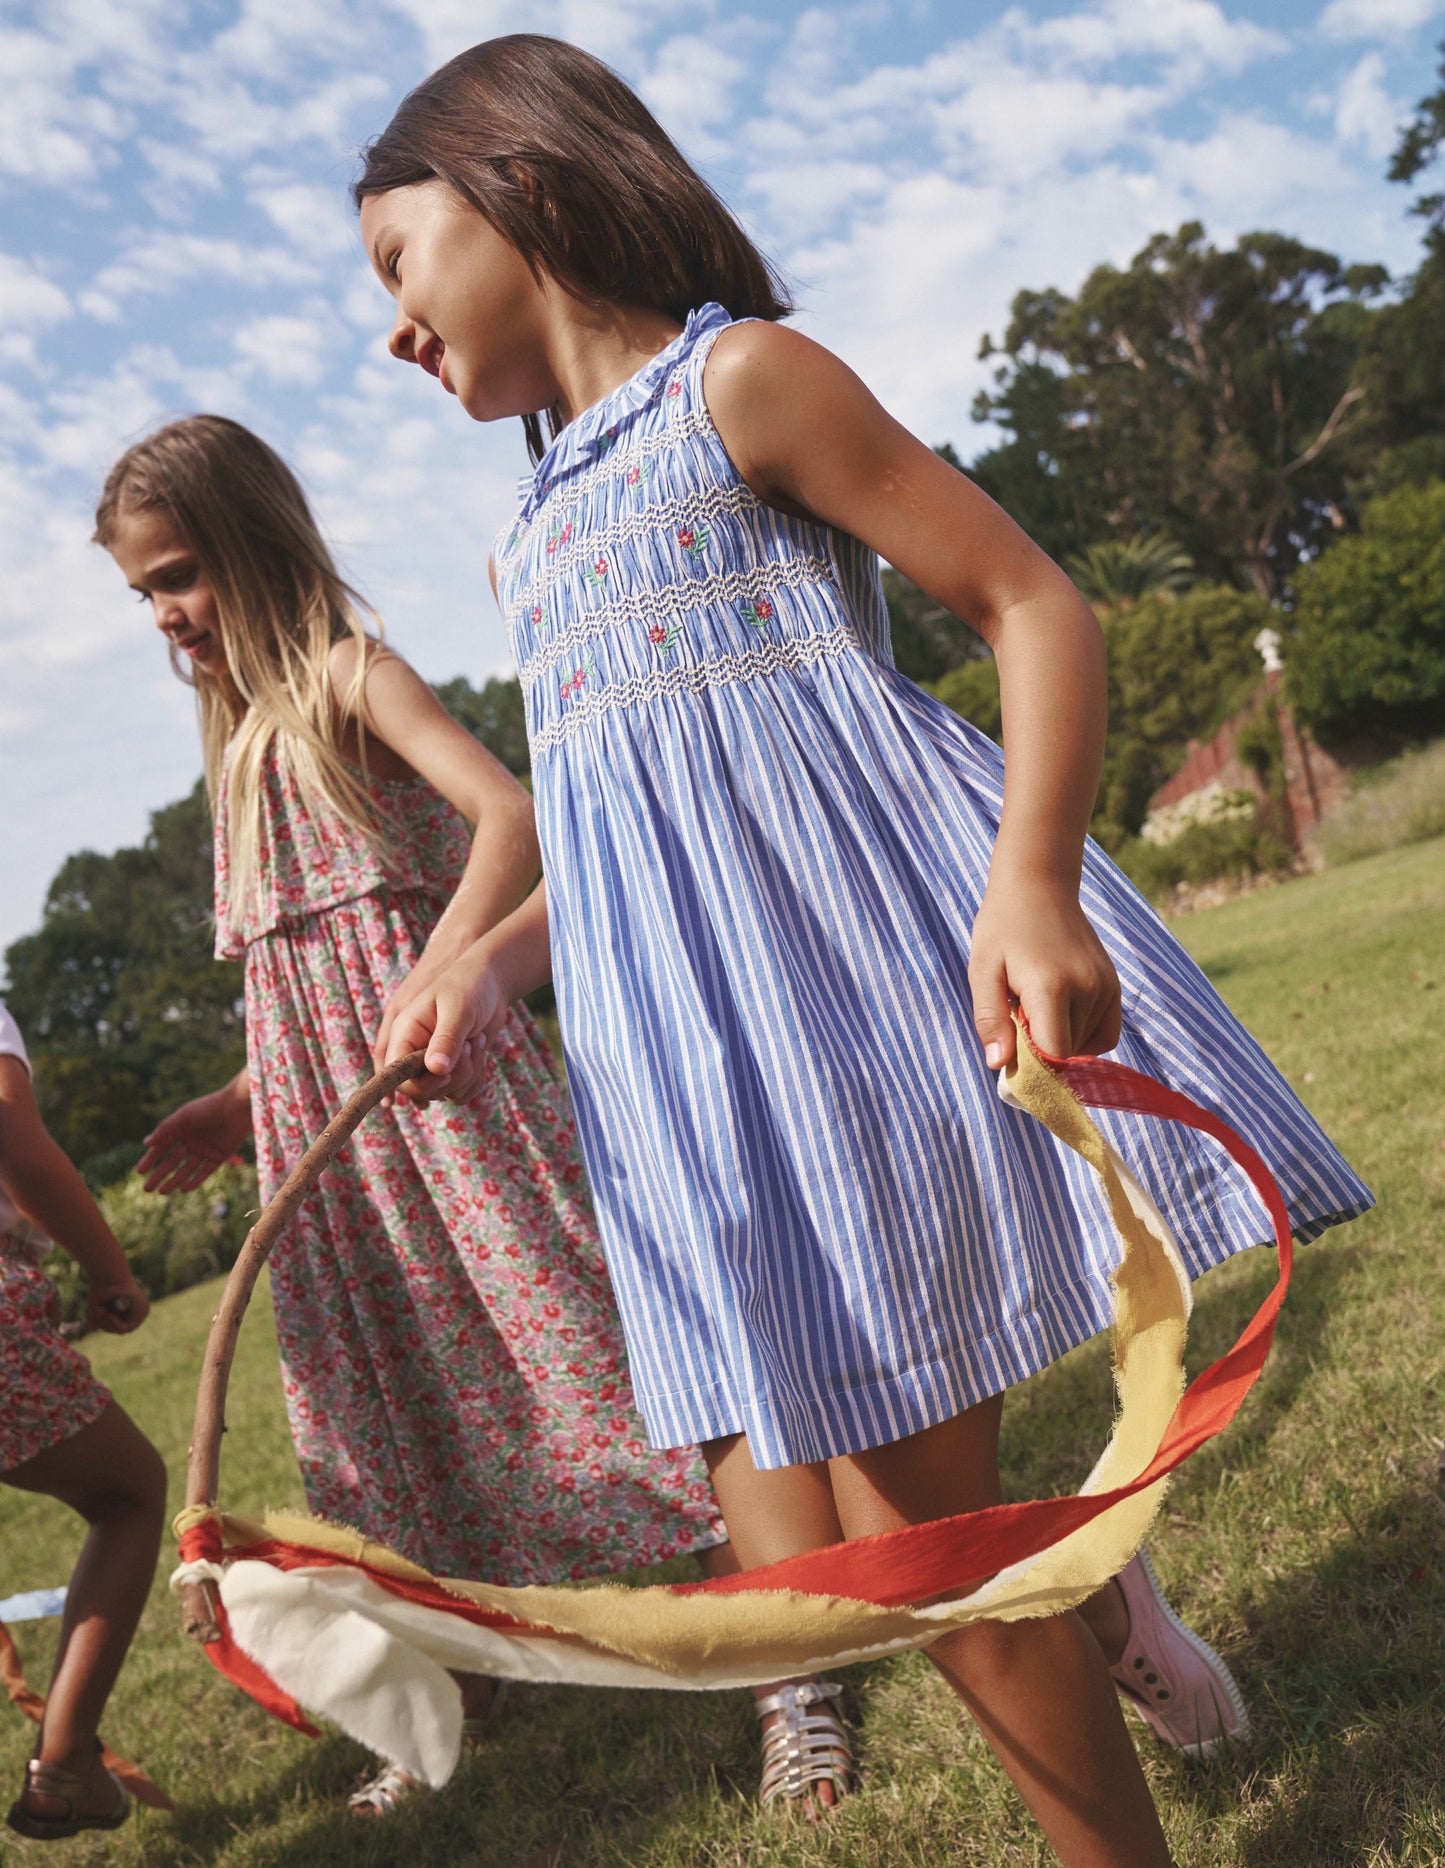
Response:
M991 1070L1014 1061L1012 1001L1051 1057L1118 1044L1120 990L1073 889L1059 882L989 880L973 925L973 1022Z

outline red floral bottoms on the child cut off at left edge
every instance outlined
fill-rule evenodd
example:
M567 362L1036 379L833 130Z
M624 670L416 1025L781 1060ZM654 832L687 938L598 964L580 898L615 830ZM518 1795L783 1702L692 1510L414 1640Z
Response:
M0 1237L0 1474L90 1427L110 1390L60 1334L56 1287L15 1238Z

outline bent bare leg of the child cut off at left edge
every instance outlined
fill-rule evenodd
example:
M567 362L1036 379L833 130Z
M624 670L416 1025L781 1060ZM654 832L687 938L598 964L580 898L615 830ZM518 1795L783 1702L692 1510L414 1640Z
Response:
M6 1472L7 1485L45 1493L90 1524L71 1575L60 1653L37 1756L86 1775L106 1696L146 1606L166 1515L166 1468L112 1401L99 1420ZM30 1804L30 1797L24 1799ZM43 1814L49 1799L35 1799Z

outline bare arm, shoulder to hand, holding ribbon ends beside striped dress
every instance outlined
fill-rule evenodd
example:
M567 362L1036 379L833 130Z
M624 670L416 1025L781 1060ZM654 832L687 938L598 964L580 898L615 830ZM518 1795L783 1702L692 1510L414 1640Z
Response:
M1014 1050L1010 996L1045 1050L1109 1050L1118 979L1079 908L1107 712L1103 639L1087 603L993 501L799 333L724 333L706 394L760 499L864 540L993 650L1008 768L973 928L975 1024L995 1065Z

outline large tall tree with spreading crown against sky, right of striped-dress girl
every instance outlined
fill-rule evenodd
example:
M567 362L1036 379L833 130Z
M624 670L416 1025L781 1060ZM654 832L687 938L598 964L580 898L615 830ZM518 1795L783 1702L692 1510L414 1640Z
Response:
M1283 234L1219 250L1187 222L1077 299L1021 291L975 403L1012 439L976 478L1010 504L1012 476L1014 516L1055 553L1169 532L1202 575L1273 598L1348 523L1354 370L1387 278Z

